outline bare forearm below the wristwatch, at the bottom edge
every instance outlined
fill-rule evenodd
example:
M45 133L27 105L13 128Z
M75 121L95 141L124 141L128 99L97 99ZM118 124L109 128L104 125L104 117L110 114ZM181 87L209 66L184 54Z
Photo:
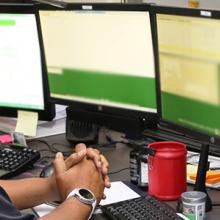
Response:
M87 220L92 211L90 205L80 202L76 198L69 198L50 214L41 217L39 220Z

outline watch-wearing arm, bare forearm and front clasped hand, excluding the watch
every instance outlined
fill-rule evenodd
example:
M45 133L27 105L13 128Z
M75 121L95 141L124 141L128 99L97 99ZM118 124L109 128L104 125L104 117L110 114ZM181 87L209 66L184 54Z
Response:
M87 220L92 211L91 205L84 204L68 194L75 188L89 189L96 197L97 204L103 197L104 180L102 173L91 160L86 158L69 170L65 170L62 154L57 154L54 161L55 176L64 202L41 220Z

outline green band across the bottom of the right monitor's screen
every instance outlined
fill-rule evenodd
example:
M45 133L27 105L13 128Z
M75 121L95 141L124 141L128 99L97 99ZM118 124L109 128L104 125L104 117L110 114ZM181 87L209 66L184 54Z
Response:
M166 92L162 92L161 100L163 119L211 135L219 132L217 129L220 129L220 106Z

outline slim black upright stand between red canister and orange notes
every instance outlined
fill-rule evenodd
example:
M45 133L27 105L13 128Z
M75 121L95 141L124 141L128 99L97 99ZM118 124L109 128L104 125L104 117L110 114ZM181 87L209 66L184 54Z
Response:
M199 166L197 170L197 177L195 183L195 191L201 191L206 193L206 212L212 210L212 201L209 197L209 194L206 191L206 172L209 169L209 162L208 162L208 155L209 155L209 144L204 143L202 144L200 157L199 157Z

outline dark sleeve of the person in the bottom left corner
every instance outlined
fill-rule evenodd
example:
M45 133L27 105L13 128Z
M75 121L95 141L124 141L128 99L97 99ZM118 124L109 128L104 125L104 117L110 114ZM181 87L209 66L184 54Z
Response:
M0 187L0 219L4 220L36 220L31 214L22 214L11 202L8 194Z

